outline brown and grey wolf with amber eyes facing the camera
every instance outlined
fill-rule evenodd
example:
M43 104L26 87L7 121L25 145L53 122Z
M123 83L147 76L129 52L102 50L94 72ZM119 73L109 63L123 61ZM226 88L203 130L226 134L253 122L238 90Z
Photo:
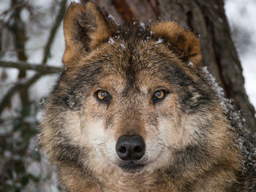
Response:
M41 123L67 191L242 188L236 129L202 70L199 39L170 21L124 26L71 3L64 71Z

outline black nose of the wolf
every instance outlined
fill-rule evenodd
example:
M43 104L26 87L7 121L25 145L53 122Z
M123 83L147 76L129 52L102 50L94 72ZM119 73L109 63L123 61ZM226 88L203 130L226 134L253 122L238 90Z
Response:
M145 149L145 142L138 134L122 135L116 142L116 153L122 160L139 160Z

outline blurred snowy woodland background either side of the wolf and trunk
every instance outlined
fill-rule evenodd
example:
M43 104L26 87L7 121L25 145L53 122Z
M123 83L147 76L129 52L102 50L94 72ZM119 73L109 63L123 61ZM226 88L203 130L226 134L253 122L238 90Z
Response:
M59 191L54 167L39 153L37 144L41 109L61 70L62 20L70 2L0 2L0 191ZM118 2L108 0L126 20ZM148 2L153 7L157 1ZM246 93L256 106L255 9L255 0L225 1Z

